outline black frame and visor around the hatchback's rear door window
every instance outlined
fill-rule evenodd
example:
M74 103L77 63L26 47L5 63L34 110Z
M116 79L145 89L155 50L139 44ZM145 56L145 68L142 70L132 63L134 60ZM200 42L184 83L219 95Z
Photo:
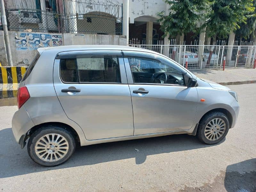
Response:
M77 66L77 58L99 58L100 56L103 56L103 58L105 58L106 56L109 57L116 57L117 59L119 58L123 58L122 53L104 53L104 52L99 52L99 53L73 53L73 54L58 54L55 59L60 59L60 64L59 64L59 76L60 76L60 80L63 84L122 84L122 78L121 78L121 71L120 71L120 63L118 61L118 67L119 67L119 74L120 74L120 83L116 83L116 82L81 82L80 81L80 75L79 75L79 71L78 71L78 66ZM65 82L62 80L61 77L61 60L62 59L75 59L75 65L76 65L76 73L77 73L77 77L78 77L78 82Z

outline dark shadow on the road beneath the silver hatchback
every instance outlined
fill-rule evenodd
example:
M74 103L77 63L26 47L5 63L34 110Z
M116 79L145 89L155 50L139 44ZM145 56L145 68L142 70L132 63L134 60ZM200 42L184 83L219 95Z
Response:
M129 158L135 158L136 164L142 164L149 155L213 146L203 144L195 136L186 134L118 141L79 147L68 162L56 167L43 167L30 159L27 145L24 149L20 149L19 144L14 140L11 128L0 130L0 142L0 178Z

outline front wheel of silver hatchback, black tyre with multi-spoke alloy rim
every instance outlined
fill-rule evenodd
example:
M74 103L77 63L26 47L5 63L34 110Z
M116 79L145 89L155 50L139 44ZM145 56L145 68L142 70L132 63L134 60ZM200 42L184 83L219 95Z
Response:
M202 143L215 144L226 137L228 130L228 117L222 112L212 112L200 120L197 137Z

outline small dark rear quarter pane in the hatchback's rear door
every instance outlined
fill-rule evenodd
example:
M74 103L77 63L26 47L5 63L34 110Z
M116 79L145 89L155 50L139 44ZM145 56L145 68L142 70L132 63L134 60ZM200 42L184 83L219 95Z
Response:
M78 82L75 59L60 60L60 76L64 82Z

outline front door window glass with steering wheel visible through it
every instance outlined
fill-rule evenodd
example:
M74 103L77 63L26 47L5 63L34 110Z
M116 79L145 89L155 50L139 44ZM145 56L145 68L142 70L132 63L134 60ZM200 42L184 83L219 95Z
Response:
M185 85L183 74L154 59L129 57L134 83Z

